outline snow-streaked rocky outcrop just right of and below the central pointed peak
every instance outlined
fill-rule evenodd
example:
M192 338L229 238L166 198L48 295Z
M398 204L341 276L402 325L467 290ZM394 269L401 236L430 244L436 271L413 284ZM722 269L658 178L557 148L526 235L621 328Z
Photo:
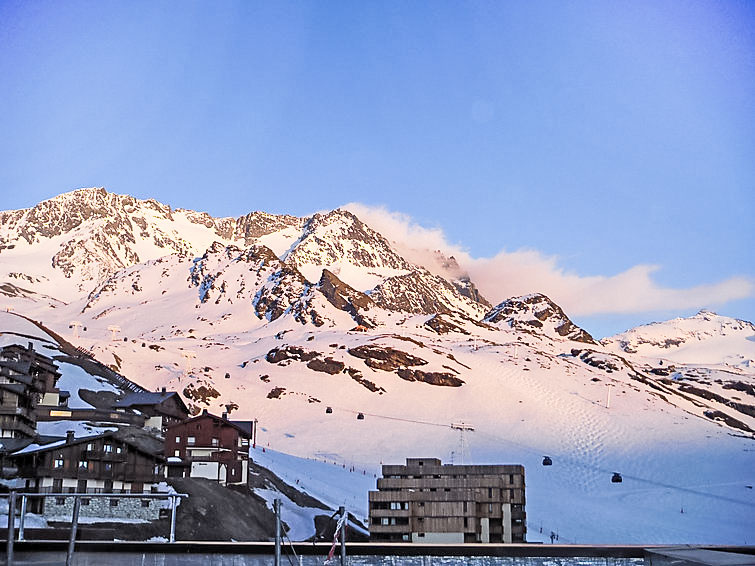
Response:
M479 317L484 312L482 305L425 269L386 279L372 290L370 298L384 309L413 314L461 312Z

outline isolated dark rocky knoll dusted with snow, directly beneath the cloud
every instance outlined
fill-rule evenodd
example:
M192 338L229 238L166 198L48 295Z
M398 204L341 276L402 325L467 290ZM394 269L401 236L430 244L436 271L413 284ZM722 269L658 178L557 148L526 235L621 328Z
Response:
M507 299L485 315L485 322L511 328L552 331L552 337L595 344L592 336L574 324L561 307L541 293Z

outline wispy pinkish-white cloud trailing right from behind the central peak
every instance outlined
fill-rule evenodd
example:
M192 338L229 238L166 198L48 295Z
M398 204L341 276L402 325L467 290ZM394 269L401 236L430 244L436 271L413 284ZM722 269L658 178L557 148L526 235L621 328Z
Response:
M475 258L447 241L438 228L418 225L406 214L350 203L344 208L383 234L406 259L440 275L469 277L491 302L532 292L545 293L573 316L628 314L712 308L755 296L755 281L731 277L709 285L671 288L653 279L657 265L635 265L615 275L582 276L560 265L559 258L536 250L501 251ZM442 261L453 256L458 269Z

